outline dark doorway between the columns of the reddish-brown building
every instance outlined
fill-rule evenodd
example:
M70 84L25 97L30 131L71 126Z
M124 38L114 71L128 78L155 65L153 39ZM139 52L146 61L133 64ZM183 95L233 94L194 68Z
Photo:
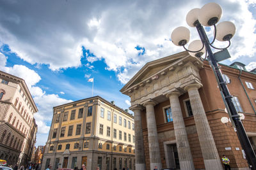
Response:
M169 144L166 145L166 152L167 152L167 159L166 159L166 166L167 168L180 168L179 156L177 151L176 144Z

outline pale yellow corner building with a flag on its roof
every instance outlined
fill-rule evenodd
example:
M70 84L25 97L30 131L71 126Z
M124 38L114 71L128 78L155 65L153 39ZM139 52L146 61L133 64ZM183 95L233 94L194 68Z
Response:
M134 118L102 97L53 108L42 169L134 169Z

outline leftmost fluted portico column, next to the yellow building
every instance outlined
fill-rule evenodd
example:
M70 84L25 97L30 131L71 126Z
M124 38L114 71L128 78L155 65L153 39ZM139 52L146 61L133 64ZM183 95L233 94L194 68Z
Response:
M136 104L129 108L134 112L134 135L135 135L135 169L146 170L143 132L141 125L141 110L143 107Z

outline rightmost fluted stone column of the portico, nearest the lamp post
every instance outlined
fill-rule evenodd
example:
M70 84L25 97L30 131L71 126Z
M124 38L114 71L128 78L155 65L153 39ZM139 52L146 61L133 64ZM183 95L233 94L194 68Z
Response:
M211 129L205 115L204 106L198 92L199 88L199 84L191 84L187 85L184 89L188 90L189 100L196 124L196 131L204 158L205 169L223 169L214 139L212 137Z

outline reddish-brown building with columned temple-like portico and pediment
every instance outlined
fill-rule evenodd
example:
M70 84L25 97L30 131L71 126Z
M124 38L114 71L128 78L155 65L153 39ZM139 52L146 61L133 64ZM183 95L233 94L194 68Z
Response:
M256 74L239 62L221 71L255 150ZM223 154L248 169L207 61L181 52L148 62L120 91L134 111L136 169L223 169Z

